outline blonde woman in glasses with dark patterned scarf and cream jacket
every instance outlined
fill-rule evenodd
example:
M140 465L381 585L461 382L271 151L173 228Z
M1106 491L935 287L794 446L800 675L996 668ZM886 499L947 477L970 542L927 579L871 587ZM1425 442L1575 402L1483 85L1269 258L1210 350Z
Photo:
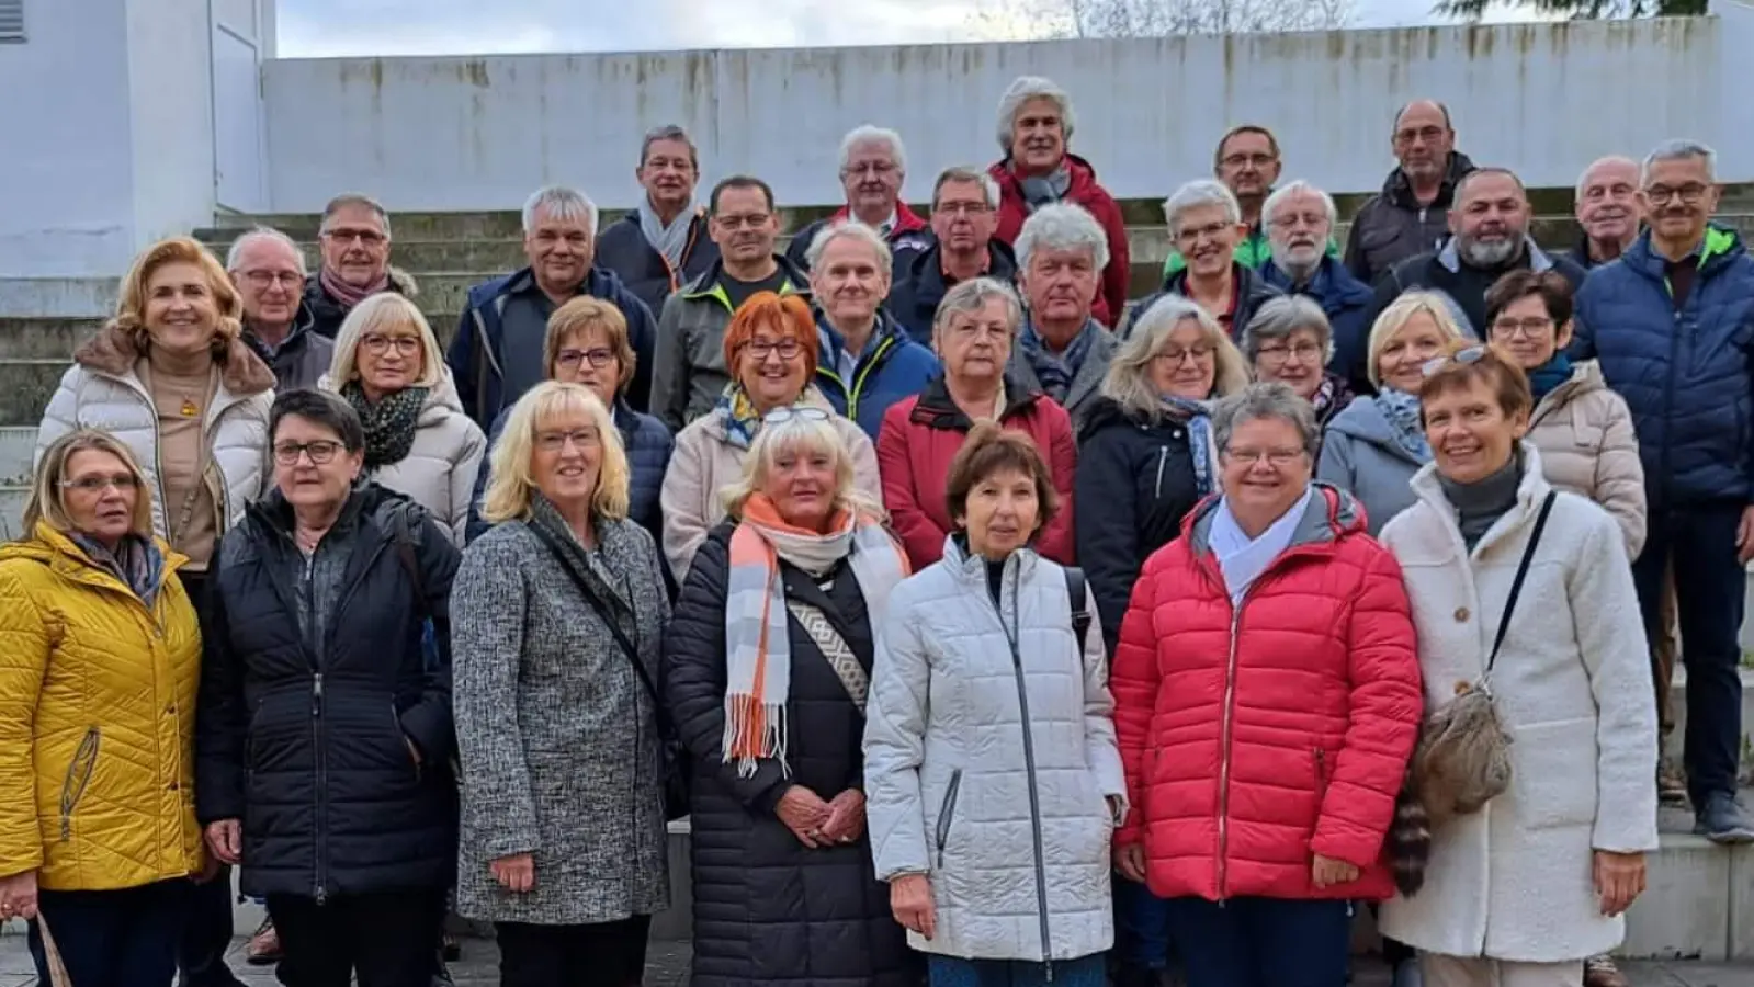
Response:
M317 386L346 398L365 424L365 475L410 496L461 545L488 440L463 414L426 316L393 291L360 302Z

